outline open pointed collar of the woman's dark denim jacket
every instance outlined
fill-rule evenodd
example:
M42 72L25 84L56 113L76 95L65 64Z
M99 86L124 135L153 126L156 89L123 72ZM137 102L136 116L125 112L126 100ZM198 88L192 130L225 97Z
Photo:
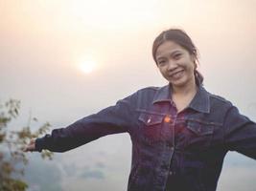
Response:
M157 90L152 103L154 104L162 101L174 103L172 100L172 88L170 84ZM198 86L198 92L190 102L188 108L192 108L201 113L210 113L210 96L201 85Z

